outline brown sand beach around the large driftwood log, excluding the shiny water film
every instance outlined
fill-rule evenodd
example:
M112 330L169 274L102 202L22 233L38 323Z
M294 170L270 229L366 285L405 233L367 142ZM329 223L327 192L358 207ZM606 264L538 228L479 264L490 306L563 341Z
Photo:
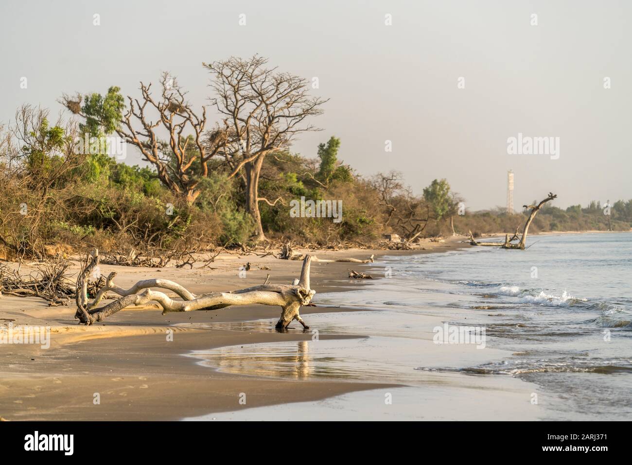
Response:
M462 240L459 239L459 240ZM423 243L425 250L463 247L456 238L445 243ZM397 255L400 251L317 251L320 258L367 258L372 253ZM245 278L239 269L250 262ZM270 270L260 270L259 266ZM199 266L199 265L198 265ZM356 263L313 263L312 287L317 293L364 286L346 277ZM118 272L116 283L128 287L150 277L177 281L193 293L228 291L264 282L291 282L301 262L238 257L222 254L212 269L164 269L101 265L102 273ZM348 311L342 308L307 307L301 315L309 324L311 313ZM260 342L308 341L312 334L293 323L285 333L230 329L194 329L176 323L244 322L278 318L280 309L270 306L229 307L216 311L169 313L157 308L120 311L105 322L77 325L75 307L49 307L36 298L4 296L0 299L0 325L51 327L51 347L35 344L0 345L0 416L6 420L178 420L240 408L241 392L248 392L248 408L307 402L349 392L394 387L389 383L338 382L337 380L284 380L252 377L212 370L183 354L212 347ZM168 341L173 330L173 341ZM353 333L353 331L351 331ZM349 334L341 337L360 337ZM320 339L327 339L321 335ZM489 385L486 390L492 389ZM493 390L490 390L493 393ZM96 405L95 397L100 397ZM298 404L297 404L298 405Z

